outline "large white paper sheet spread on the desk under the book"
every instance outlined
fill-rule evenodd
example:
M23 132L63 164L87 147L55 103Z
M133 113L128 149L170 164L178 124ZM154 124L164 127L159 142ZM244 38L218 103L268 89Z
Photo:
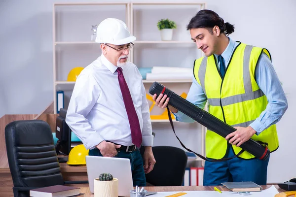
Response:
M229 192L216 192L216 191L183 191L187 194L181 197L242 197L238 194L230 194ZM151 195L148 197L166 197L169 195L177 194L179 192L158 192L155 195ZM266 190L262 190L261 192L251 192L249 197L274 197L279 192L277 189L272 185L270 188Z

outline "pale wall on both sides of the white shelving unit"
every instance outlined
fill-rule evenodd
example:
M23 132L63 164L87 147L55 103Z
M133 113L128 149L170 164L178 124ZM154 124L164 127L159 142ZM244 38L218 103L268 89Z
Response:
M82 0L62 2L78 1ZM37 114L52 101L53 2L61 1L0 0L0 116L4 113ZM233 39L265 47L270 51L274 67L287 93L289 108L277 124L280 147L271 154L268 182L283 182L296 177L296 134L293 124L296 111L296 1L204 2L208 9L216 11L225 22L235 25L235 33L231 34ZM178 143L171 131L168 135L170 140ZM193 142L188 140L188 143Z

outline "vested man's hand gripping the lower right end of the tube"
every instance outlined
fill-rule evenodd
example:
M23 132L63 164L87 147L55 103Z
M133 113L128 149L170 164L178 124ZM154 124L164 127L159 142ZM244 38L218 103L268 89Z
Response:
M229 140L229 143L232 145L236 145L239 147L244 142L248 141L255 133L256 131L252 127L234 127L236 131L228 134L225 139Z

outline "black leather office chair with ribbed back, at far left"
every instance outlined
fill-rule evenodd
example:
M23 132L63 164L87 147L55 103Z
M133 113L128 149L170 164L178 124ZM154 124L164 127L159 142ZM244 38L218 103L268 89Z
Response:
M29 197L30 190L40 187L88 183L63 180L52 131L44 121L9 123L5 143L14 197Z

